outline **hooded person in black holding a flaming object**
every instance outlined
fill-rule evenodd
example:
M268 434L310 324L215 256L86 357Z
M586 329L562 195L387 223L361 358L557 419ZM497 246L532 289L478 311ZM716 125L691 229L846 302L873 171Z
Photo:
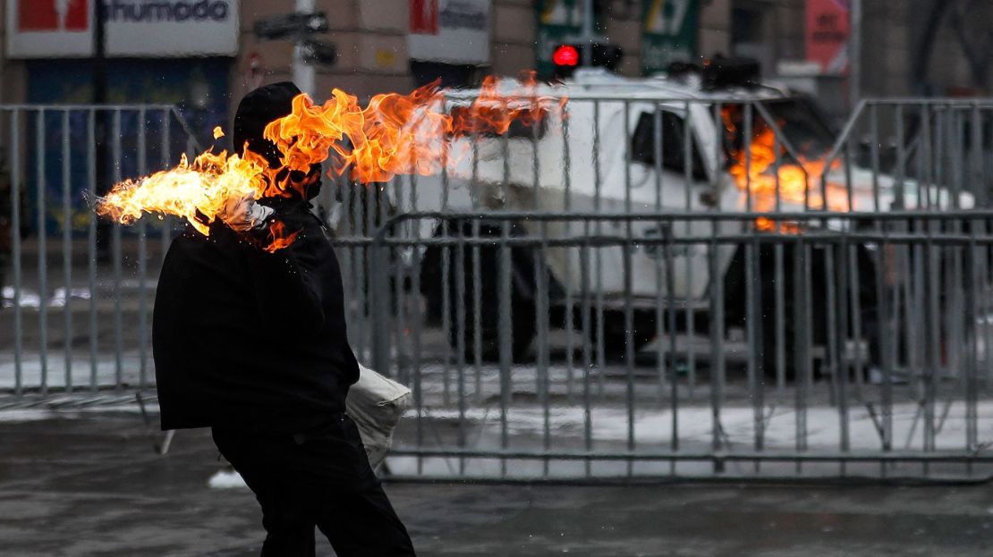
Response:
M290 82L249 92L234 146L279 166L262 130L289 114ZM310 200L320 166L287 173L288 197L232 200L173 240L159 278L153 351L162 428L213 428L220 453L255 492L263 555L314 555L314 527L342 557L413 555L345 414L358 378L338 259ZM273 253L273 220L298 232Z

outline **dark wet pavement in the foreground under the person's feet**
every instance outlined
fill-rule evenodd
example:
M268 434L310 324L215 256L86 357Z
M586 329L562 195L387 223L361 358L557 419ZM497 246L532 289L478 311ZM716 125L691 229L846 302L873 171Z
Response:
M257 555L252 494L208 487L209 432L158 439L136 414L0 412L0 554ZM989 486L386 489L422 556L993 552Z

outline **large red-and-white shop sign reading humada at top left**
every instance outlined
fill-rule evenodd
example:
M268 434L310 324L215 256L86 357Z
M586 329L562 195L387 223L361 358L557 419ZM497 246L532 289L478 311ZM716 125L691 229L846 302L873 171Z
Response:
M8 0L10 58L93 54L97 0ZM239 0L104 0L108 57L234 56Z

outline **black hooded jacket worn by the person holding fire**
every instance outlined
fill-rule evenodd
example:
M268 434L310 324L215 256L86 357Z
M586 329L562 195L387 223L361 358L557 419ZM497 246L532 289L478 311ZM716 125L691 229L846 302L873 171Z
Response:
M261 130L297 93L288 82L248 93L235 148L271 159ZM152 333L163 429L297 433L345 411L358 366L335 252L308 200L262 203L300 231L289 247L267 253L215 220L210 236L188 226L166 254Z

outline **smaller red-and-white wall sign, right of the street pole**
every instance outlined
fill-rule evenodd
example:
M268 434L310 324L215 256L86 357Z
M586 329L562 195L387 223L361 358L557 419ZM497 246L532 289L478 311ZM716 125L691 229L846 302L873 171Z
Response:
M413 0L411 8L430 0ZM427 13L437 22L423 22L418 11L419 25L407 36L407 50L412 60L447 62L453 64L490 63L490 0L434 0L437 10ZM435 25L426 25L434 23ZM423 33L434 28L437 33ZM417 31L415 33L415 31Z

